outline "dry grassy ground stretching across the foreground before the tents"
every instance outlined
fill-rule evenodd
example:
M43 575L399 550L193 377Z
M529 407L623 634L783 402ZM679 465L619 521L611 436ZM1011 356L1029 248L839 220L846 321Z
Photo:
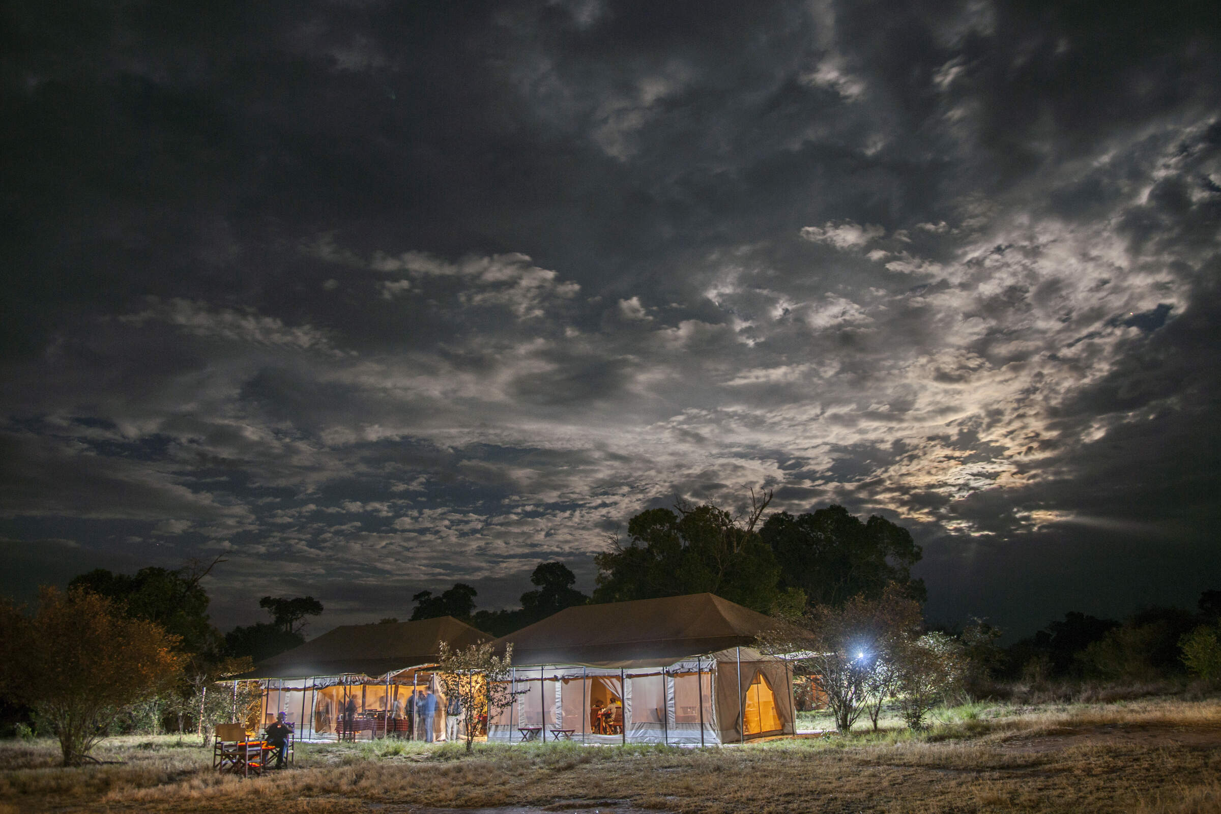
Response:
M105 762L55 765L50 741L0 743L0 814L12 812L409 812L414 807L618 801L667 812L1221 812L1221 702L940 710L913 735L785 738L746 747L303 746L297 769L216 776L176 737L115 738ZM811 721L812 724L814 721ZM806 724L803 724L805 726Z

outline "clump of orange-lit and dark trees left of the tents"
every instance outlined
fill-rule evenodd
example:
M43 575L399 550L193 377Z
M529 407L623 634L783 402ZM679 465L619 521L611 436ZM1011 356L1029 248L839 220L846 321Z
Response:
M65 763L79 763L98 737L122 732L194 732L206 742L233 714L215 682L304 643L313 597L264 597L270 621L221 633L208 614L204 566L98 569L66 592L44 588L33 616L0 603L0 714L16 733L55 733ZM239 688L239 709L260 693Z

